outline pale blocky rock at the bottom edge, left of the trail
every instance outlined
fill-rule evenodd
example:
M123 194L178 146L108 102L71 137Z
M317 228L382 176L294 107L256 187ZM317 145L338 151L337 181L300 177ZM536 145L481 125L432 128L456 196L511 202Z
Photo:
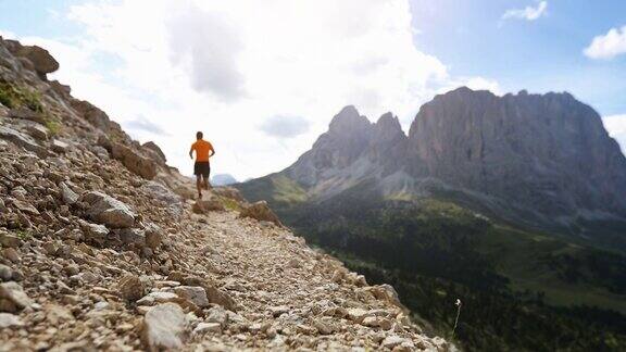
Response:
M149 351L180 349L184 337L185 313L177 304L160 304L146 313L141 338Z

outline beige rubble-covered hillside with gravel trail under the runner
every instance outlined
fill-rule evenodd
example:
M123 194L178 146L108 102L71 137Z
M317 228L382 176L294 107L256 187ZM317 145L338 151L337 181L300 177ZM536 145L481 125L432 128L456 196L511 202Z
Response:
M58 67L0 38L0 351L454 350L265 203L196 202Z

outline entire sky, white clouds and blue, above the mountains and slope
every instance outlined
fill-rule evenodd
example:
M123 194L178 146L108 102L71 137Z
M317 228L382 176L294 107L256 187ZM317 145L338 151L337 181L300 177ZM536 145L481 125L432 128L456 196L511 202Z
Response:
M461 85L569 91L626 146L624 0L0 0L0 34L49 49L53 78L187 174L197 129L215 169L255 177L343 105L406 128Z

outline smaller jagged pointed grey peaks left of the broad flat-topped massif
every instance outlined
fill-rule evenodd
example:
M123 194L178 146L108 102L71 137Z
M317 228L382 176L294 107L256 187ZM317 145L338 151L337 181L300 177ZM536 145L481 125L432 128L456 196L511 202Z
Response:
M406 147L406 135L391 113L372 124L354 106L346 106L313 148L284 173L310 188L311 194L327 198L366 179L393 178L404 169Z

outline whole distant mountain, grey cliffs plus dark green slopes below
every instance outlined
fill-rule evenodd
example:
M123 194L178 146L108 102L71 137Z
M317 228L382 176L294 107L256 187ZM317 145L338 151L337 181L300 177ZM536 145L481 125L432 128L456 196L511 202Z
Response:
M438 331L463 298L467 350L626 347L626 160L568 93L459 88L409 135L346 106L291 166L236 187Z

